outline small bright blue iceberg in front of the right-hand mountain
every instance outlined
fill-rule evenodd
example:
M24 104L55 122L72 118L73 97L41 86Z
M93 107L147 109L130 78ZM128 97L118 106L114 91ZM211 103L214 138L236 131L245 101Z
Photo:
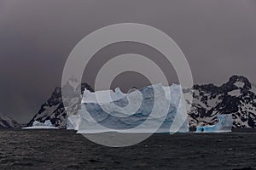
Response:
M196 127L196 133L230 133L232 126L232 115L218 115L218 123L216 125Z

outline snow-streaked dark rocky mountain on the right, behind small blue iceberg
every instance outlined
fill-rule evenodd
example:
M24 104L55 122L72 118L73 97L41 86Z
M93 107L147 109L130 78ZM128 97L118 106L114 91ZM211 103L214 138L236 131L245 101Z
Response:
M212 125L218 114L232 114L233 127L256 126L256 95L246 77L233 76L217 87L213 84L195 85L189 124Z

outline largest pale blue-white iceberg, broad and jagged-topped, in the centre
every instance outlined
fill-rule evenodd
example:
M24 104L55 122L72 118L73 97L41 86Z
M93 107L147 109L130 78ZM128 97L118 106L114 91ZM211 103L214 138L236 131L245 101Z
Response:
M85 90L79 116L68 117L67 129L77 133L188 133L189 122L181 86L156 84L128 94L119 88Z

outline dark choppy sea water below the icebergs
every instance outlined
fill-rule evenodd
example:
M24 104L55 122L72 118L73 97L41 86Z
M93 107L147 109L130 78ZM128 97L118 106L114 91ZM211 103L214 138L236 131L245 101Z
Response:
M66 130L1 130L0 169L254 169L256 133L154 134L109 148Z

